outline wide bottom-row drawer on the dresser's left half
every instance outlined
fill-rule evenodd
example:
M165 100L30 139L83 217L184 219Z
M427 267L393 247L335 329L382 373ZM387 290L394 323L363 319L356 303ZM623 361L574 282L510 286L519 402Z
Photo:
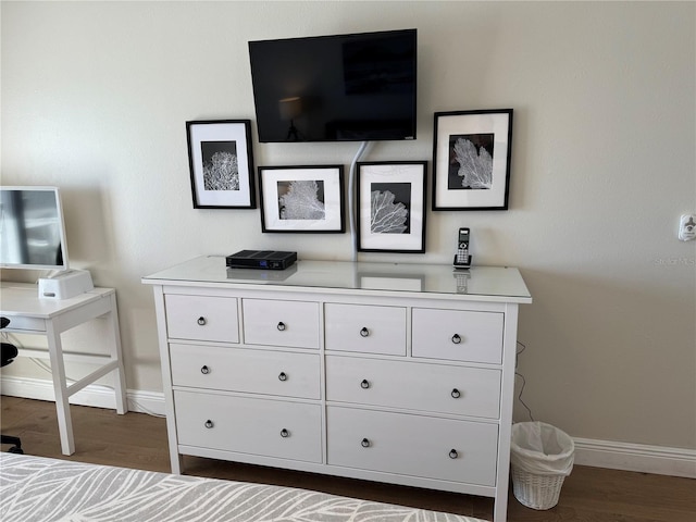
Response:
M178 444L322 461L321 407L174 391Z

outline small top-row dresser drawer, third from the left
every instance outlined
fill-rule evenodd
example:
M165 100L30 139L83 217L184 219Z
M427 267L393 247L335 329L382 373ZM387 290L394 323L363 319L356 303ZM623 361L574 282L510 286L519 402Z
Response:
M326 350L406 355L406 308L327 303Z

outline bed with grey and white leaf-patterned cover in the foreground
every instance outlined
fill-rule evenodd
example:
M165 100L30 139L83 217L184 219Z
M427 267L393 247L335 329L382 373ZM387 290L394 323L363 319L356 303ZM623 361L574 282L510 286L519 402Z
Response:
M2 522L483 522L304 489L0 453Z

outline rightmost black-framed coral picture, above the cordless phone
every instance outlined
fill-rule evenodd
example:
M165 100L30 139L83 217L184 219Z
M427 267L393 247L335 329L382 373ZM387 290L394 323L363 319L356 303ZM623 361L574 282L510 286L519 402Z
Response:
M433 210L507 210L512 109L435 113Z

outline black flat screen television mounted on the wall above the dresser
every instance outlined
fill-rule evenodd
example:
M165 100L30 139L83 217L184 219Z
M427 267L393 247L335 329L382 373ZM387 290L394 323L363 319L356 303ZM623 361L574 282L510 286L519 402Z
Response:
M249 41L261 142L415 139L417 29Z

